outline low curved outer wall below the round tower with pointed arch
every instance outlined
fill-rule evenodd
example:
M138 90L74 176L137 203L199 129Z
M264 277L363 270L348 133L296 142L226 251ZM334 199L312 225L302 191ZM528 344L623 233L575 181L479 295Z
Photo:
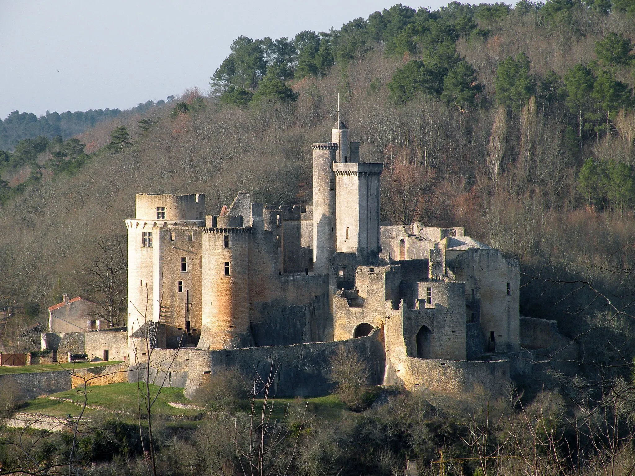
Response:
M504 395L509 383L509 360L442 360L408 357L406 364L410 376L401 380L408 390L427 388L435 392L473 392L476 386L483 387L491 395Z

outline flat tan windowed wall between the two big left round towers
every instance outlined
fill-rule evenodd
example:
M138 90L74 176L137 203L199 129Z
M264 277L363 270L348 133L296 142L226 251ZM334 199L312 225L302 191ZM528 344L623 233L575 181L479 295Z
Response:
M154 301L161 308L154 308L152 320L166 325L167 345L177 347L187 321L195 340L201 332L202 232L199 227L157 227L156 233L153 289Z

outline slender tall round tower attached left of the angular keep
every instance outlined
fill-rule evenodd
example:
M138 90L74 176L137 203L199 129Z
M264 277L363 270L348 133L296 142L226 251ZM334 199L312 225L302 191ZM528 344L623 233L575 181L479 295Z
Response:
M335 174L337 143L313 144L313 270L328 274L335 253Z

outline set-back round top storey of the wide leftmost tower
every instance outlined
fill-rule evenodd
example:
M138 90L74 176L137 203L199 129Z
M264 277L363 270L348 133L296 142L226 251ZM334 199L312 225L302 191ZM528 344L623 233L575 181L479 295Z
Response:
M204 220L204 194L137 194L137 220ZM157 216L157 207L165 208L165 217Z

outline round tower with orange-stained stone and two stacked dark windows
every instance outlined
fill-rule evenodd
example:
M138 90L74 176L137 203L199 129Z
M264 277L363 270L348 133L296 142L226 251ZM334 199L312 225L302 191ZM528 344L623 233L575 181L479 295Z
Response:
M220 218L226 217L218 217L219 221ZM234 223L228 224L234 225ZM202 231L203 325L198 347L204 350L246 347L251 343L249 334L251 228L219 226L218 228L202 228Z

